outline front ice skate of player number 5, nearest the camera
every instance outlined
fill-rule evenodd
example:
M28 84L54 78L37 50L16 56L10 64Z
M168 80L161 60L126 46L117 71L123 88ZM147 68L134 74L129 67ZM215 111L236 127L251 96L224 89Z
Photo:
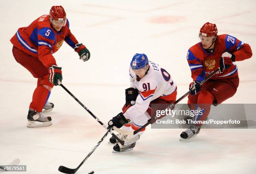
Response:
M27 127L46 127L51 124L51 117L45 117L43 114L36 112L33 109L28 110Z

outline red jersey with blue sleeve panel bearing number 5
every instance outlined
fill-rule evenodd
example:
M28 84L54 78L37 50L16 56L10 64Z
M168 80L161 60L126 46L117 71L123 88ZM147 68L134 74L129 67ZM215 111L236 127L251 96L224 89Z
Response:
M52 54L59 50L64 40L73 49L78 43L69 30L69 21L67 20L66 25L57 32L51 27L49 15L42 15L28 27L19 28L10 41L18 49L38 57L43 65L49 68L56 65Z

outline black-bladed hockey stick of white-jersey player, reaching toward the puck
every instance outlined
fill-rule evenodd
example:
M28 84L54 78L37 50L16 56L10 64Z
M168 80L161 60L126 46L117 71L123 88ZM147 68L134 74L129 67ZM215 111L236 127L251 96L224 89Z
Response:
M110 130L112 129L112 127L110 129L108 129L108 131L103 135L103 137L100 139L100 141L96 144L95 147L93 147L92 151L87 154L87 156L84 158L84 160L79 164L79 166L75 169L69 169L67 167L64 166L60 166L59 167L59 172L65 173L65 174L74 174L77 172L77 170L84 164L84 162L90 157L90 155L95 151L95 149L97 149L97 147L100 145L100 143L107 137L108 133L110 132Z

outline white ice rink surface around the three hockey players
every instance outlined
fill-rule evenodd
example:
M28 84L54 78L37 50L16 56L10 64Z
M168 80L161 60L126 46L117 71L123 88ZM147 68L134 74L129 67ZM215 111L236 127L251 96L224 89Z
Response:
M135 53L147 54L168 70L180 97L191 81L187 50L200 41L205 22L216 23L219 34L235 36L255 52L254 0L2 0L0 165L19 158L27 174L57 174L60 165L77 167L105 133L61 87L54 87L50 102L55 107L45 114L53 125L26 127L36 79L15 62L9 40L18 27L47 14L52 5L65 8L72 33L91 52L90 60L82 62L64 43L54 54L63 68L63 84L104 123L121 110ZM237 62L240 85L224 103L256 103L254 57ZM179 142L181 132L148 127L133 151L119 154L111 153L105 139L77 173L256 173L255 129L202 129L195 139Z

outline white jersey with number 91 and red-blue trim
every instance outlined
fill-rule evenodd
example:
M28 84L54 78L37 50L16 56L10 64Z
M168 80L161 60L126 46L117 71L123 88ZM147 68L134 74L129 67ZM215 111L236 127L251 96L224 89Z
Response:
M139 81L131 67L129 70L131 87L137 88L139 91L136 104L123 114L131 120L144 114L154 99L161 98L166 101L176 99L176 83L173 82L171 75L154 62L149 61L148 65L147 74Z

